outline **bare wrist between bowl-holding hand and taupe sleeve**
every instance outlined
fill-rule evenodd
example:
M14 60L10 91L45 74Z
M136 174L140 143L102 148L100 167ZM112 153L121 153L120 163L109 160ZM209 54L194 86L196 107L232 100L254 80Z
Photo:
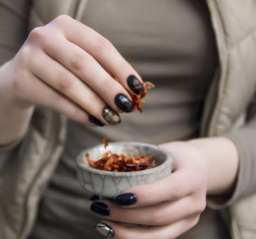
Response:
M239 156L235 144L227 137L209 137L189 140L204 158L207 168L207 193L229 194L235 184Z

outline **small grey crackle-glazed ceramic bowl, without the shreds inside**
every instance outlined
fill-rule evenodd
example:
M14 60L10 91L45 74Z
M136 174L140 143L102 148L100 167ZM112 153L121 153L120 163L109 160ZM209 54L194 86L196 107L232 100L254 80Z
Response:
M90 153L93 160L98 160L108 150L128 156L151 155L155 160L155 166L132 172L104 171L89 166L87 152ZM104 147L104 144L100 144L82 151L76 161L81 186L92 194L107 198L114 198L129 187L150 183L167 176L171 173L172 162L172 156L168 151L140 142L112 142L107 148Z

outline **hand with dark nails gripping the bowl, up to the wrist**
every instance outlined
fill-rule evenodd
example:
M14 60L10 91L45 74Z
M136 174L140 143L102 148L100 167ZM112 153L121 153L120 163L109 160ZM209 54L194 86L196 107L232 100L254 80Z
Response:
M117 202L123 206L109 200L92 204L93 211L104 215L106 220L103 223L115 231L114 238L176 238L198 222L206 205L205 160L197 147L188 142L160 146L168 149L174 158L173 172L169 176L130 188L117 197ZM132 205L124 206L128 204ZM146 227L126 227L114 221ZM98 224L99 232L110 233L111 237L112 231L103 226Z

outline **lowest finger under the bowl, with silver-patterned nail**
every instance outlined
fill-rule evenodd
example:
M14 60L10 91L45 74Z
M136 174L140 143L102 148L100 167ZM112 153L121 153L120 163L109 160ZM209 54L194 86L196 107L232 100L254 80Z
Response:
M107 238L119 239L171 239L176 238L197 224L199 216L191 216L176 223L165 226L125 226L113 221L102 221L96 230Z

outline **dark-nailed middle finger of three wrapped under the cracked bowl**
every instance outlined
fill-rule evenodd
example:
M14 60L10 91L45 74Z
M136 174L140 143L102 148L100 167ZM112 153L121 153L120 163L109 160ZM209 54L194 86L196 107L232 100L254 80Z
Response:
M91 206L93 212L107 216L110 220L141 225L171 224L191 215L198 215L204 208L204 200L189 196L151 207L125 208L111 201L98 201Z

